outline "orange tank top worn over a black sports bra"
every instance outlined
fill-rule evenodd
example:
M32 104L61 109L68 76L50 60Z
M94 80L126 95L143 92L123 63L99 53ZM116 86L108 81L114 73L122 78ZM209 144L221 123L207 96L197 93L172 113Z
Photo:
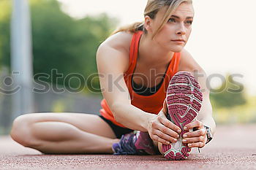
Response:
M140 42L140 36L143 34L143 31L138 31L132 36L132 41L129 49L129 68L127 72L124 73L124 80L127 84L127 88L129 90L129 95L131 97L132 105L142 109L145 112L150 112L153 114L158 114L162 109L162 104L165 100L167 87L169 85L171 77L173 77L176 72L178 72L178 64L180 61L180 53L174 53L173 58L171 59L169 66L167 68L167 72L165 74L165 78L162 82L161 87L157 90L156 93L150 96L142 96L132 89L132 74L135 70L137 57L138 57L138 47ZM106 119L112 121L114 124L119 125L123 128L126 128L121 123L116 122L113 117L113 113L110 111L108 107L107 101L105 98L101 101L102 109L99 109L100 115L105 117Z

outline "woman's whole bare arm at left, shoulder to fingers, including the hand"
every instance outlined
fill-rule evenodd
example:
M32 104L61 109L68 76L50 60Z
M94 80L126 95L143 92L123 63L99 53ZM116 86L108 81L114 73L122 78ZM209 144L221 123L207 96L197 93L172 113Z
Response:
M120 42L120 41L115 41ZM178 126L163 118L133 106L124 81L129 66L129 54L121 47L103 43L97 50L97 69L102 95L118 123L138 131L148 131L151 139L165 143L176 142ZM174 131L172 130L174 129Z

